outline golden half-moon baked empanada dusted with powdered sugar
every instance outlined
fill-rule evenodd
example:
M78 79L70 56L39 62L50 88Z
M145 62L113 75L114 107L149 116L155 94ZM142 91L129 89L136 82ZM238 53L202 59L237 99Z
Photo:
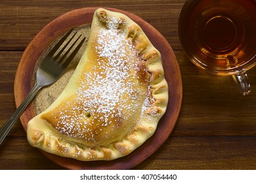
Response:
M99 8L66 88L28 123L28 142L81 161L125 156L154 134L167 91L161 54L139 25Z

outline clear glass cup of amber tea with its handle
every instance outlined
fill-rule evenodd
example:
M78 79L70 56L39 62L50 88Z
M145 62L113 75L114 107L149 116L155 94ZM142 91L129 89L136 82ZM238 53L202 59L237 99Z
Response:
M243 95L251 92L246 71L256 64L255 0L187 0L179 37L196 66L232 75Z

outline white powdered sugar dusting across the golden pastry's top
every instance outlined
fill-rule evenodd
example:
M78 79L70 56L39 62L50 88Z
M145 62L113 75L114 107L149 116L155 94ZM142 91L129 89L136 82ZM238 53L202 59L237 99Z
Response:
M94 142L104 127L115 130L122 123L138 122L142 110L149 105L143 103L148 101L148 92L144 90L148 89L148 83L141 82L137 75L136 65L142 60L125 33L116 29L116 22L112 18L108 29L100 29L94 38L97 57L91 61L93 69L81 75L75 105L70 104L72 111L60 112L63 114L56 129L61 133ZM112 138L107 132L104 135L106 139Z

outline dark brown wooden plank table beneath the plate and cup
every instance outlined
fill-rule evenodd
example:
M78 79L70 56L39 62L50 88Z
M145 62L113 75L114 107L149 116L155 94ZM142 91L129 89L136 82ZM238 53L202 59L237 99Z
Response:
M256 68L243 97L231 77L214 76L186 58L178 35L185 0L0 1L0 126L15 110L14 76L26 46L54 18L82 7L137 14L171 44L181 69L183 99L169 139L134 169L256 169ZM0 146L0 169L63 169L32 148L20 122Z

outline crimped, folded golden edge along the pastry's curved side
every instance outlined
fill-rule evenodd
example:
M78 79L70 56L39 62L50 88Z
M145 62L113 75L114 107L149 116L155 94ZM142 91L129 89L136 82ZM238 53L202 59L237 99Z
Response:
M146 61L145 66L150 73L150 92L154 98L154 103L151 104L151 107L148 108L148 111L143 115L141 122L134 127L130 133L121 141L112 142L108 146L90 148L89 146L72 142L72 138L70 139L71 141L64 140L66 137L45 121L37 125L28 124L28 141L32 146L36 146L59 156L75 158L81 161L111 160L130 154L156 131L158 122L165 113L168 103L168 86L161 64L161 54L154 48L146 35L144 35L139 25L130 20L127 16L99 8L95 11L94 17L98 17L98 13L102 11L106 12L108 16L115 15L122 17L125 21L129 22L129 24L135 25L135 27L138 28L139 35L148 42L148 46L144 50L140 50L140 56ZM138 46L138 50L139 49L140 46ZM151 55L148 53L151 53ZM153 54L154 56L152 56ZM33 121L41 121L40 114L35 116Z

